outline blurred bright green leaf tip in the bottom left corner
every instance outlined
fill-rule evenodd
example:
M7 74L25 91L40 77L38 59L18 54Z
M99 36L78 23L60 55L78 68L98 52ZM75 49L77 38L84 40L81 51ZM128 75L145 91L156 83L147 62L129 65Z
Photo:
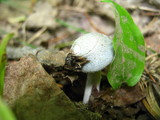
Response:
M13 113L0 98L0 120L16 120Z

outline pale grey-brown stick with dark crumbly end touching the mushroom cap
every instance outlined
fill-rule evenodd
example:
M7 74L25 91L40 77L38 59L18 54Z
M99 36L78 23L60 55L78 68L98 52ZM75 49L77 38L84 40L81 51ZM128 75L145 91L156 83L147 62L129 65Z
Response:
M75 56L70 51L46 50L44 48L33 49L28 46L22 48L7 47L8 59L17 60L29 54L36 56L43 66L57 69L58 67L63 67L75 72L81 72L83 65L88 62L86 58Z

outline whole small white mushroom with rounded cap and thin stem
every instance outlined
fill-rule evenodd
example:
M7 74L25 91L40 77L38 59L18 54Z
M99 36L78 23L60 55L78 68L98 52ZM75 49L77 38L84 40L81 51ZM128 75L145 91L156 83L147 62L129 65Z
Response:
M114 58L112 40L100 33L88 33L76 39L71 50L89 60L82 68L82 72L88 73L83 97L83 103L88 103L93 85L99 90L101 70Z

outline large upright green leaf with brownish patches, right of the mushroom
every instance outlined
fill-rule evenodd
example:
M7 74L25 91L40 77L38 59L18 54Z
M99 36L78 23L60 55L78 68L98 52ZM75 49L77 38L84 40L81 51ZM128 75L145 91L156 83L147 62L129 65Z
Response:
M113 38L115 59L107 74L109 83L114 89L119 88L122 83L134 86L140 80L145 65L143 35L123 7L112 0L102 2L112 6L116 23Z

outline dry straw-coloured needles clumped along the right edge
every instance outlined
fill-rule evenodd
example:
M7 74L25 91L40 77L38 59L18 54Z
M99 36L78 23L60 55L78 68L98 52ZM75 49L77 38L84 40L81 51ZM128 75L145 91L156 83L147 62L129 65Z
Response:
M160 119L160 56L158 53L149 55L146 58L147 77L145 81L148 82L147 96L142 101L148 112L154 119ZM149 79L148 79L149 78Z

